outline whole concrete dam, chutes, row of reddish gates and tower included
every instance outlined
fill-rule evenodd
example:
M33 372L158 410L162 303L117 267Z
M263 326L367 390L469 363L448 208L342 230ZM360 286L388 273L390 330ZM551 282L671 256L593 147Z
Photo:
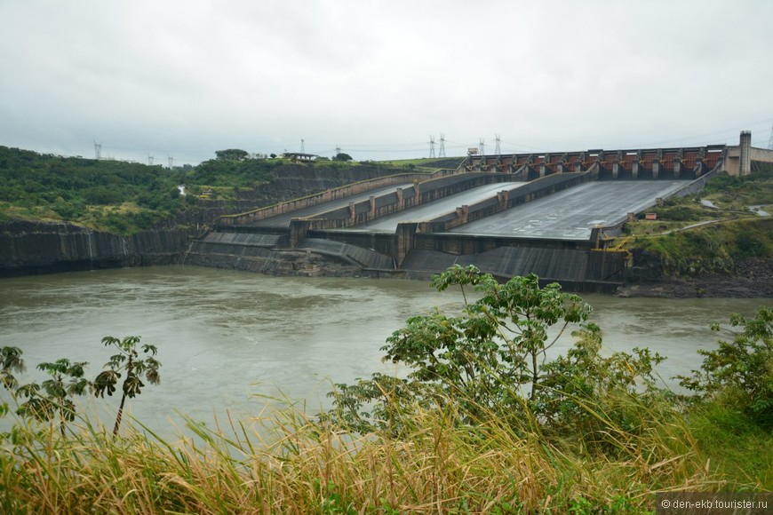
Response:
M431 178L376 178L222 217L186 262L409 278L476 265L502 279L537 273L569 289L610 291L633 265L610 247L626 220L697 193L715 173L748 173L745 134L739 147L471 155Z

